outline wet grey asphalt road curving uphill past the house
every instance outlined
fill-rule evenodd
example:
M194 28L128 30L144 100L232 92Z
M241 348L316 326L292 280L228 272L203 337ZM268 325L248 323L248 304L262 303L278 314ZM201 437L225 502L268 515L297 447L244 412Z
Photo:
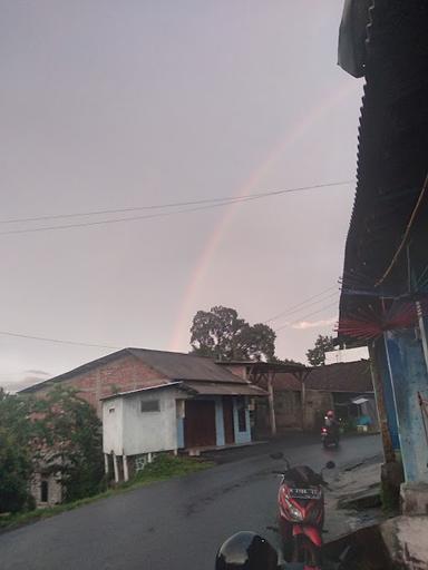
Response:
M276 543L281 449L293 464L346 466L379 454L378 436L342 440L338 451L319 442L286 441L237 450L225 462L186 478L97 501L0 535L1 570L212 570L218 546L239 530Z

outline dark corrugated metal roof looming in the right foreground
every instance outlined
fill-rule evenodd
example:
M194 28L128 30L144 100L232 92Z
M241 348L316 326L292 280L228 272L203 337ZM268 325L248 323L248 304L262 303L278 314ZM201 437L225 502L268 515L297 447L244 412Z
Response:
M346 246L340 323L359 317L368 305L381 313L379 296L392 298L407 292L406 248L388 279L381 286L379 282L398 252L427 175L427 26L426 1L376 0L370 10L358 181ZM424 229L427 215L425 203L418 215ZM411 254L415 264L415 256L424 257L425 252L414 248Z

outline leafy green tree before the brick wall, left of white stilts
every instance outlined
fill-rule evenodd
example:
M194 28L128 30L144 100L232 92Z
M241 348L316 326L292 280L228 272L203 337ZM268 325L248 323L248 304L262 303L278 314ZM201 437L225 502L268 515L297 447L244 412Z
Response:
M54 387L33 404L38 460L64 488L65 501L96 494L104 482L101 422L72 389Z

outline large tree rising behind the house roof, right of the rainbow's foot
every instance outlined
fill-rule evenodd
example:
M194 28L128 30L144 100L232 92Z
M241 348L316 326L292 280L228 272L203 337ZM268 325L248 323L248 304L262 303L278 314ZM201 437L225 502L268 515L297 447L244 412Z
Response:
M193 352L218 360L266 360L275 354L275 333L262 323L250 325L234 308L198 311L191 328Z

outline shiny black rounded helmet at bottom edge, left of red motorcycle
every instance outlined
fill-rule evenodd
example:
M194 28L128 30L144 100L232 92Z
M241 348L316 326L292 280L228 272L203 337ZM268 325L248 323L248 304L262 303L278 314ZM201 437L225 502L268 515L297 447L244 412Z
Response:
M278 570L276 550L260 534L242 531L220 548L215 570Z

